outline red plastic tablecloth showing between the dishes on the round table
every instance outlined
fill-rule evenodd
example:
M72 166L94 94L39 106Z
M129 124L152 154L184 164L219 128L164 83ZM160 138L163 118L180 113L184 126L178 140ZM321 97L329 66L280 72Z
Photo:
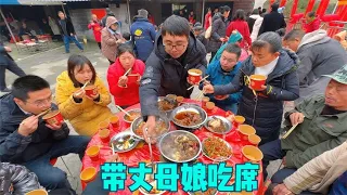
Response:
M185 99L183 103L194 103L194 104L197 104L201 106L201 102L197 102L197 101L194 101L194 100L190 100L190 99ZM136 104L131 107L128 107L127 110L129 109L133 109L133 108L140 108L140 104ZM119 128L118 129L112 129L112 132L111 132L111 138L113 138L113 135L117 134L118 132L121 132L121 131L125 131L126 129L128 129L130 127L129 123L127 123L126 121L123 120L123 116L124 116L124 113L118 113L116 114L118 117L119 117ZM220 109L218 107L215 107L215 109L213 112L207 112L207 115L208 116L226 116L227 113L223 110L223 109ZM176 129L175 125L171 122L171 130ZM197 129L193 132L201 141L203 141L205 138L208 138L208 136L222 136L222 135L219 135L219 134L215 134L215 133L211 133L210 131L206 130L204 127L202 127L201 129ZM227 165L228 166L234 166L235 164L241 164L241 162L244 162L242 160L242 154L241 154L241 147L243 145L245 145L246 143L242 143L242 142L233 142L232 140L234 140L234 136L235 135L235 130L231 130L227 135L226 135L226 140L228 143L230 143L230 145L232 146L233 148L233 156L227 160ZM101 139L99 138L99 134L97 133L95 135L92 136L91 141L89 142L87 148L89 148L90 146L92 145L99 145L101 146L101 150L100 150L100 160L99 161L92 161L89 156L85 155L83 159L82 159L82 168L81 170L83 170L85 168L87 167L94 167L98 169L98 171L100 170L100 166L103 165L107 157L112 155L112 150L111 147L108 146L108 144L105 144L101 141ZM153 150L153 157L154 157L154 160L155 161L160 161L159 160L159 157L160 157L160 154L159 154L159 151L158 148L153 145L152 146L152 150ZM138 166L139 162L141 161L150 161L150 150L149 150L149 145L147 144L143 144L140 142L140 144L133 148L132 151L130 152L127 152L127 153L119 153L118 154L119 158L121 159L121 161L127 165L128 167L136 167ZM200 155L200 157L197 158L197 161L201 161L201 162L204 162L204 164L213 164L213 161L208 158L206 158L204 155ZM261 166L261 165L260 165ZM261 192L262 190L262 173L259 173L258 178L258 186L259 186L259 190L257 192L254 192L255 195L260 195L262 193L258 193L258 192ZM86 187L86 183L81 182L82 183L82 188ZM128 177L127 180L126 180L126 186L129 186L130 184L132 184L133 181L130 180L130 178ZM181 188L179 186L179 188ZM133 192L131 193L129 191L129 188L126 188L125 191L119 191L117 193L110 193L110 195L114 195L114 194L117 194L117 195L130 195L130 194L141 194L140 192ZM165 195L167 194L176 194L176 195L185 195L188 193L183 192L182 190L179 190L178 192L176 193L165 193ZM226 194L226 193L218 193L218 195L222 195L222 194Z

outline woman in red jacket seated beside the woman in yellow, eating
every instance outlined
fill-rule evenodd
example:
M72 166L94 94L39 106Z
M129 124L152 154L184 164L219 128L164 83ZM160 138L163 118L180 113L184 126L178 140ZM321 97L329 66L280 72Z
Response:
M116 105L126 108L140 102L139 84L144 67L144 63L136 58L131 47L118 47L117 60L107 72L110 92Z

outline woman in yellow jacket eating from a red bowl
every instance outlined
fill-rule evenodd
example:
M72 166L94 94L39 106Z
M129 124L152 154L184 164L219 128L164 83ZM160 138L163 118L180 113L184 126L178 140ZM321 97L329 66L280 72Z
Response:
M86 95L82 89L86 82L97 87L94 95ZM111 103L107 88L83 55L72 55L68 58L67 70L56 78L55 96L60 112L78 134L93 135L98 132L99 123L113 116L107 107Z

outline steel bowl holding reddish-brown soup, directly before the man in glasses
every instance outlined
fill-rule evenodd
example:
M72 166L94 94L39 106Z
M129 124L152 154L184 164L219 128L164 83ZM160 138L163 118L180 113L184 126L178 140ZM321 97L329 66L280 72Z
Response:
M179 113L182 113L182 112L195 112L195 113L198 113L200 116L202 117L202 122L197 123L197 125L194 125L194 126L182 126L182 125L179 125L176 120L175 120L175 116ZM196 104L183 104L177 108L175 108L171 113L171 116L170 116L170 120L178 127L181 127L183 129L198 129L201 128L205 122L206 122L206 119L207 119L207 114L206 112L200 107L198 105Z

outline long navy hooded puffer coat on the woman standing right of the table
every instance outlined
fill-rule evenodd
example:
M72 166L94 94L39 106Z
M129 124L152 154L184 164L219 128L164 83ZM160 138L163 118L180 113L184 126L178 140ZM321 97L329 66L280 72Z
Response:
M281 51L274 70L268 76L267 90L258 92L257 98L247 87L245 75L253 75L255 66L252 56L244 61L234 80L227 86L215 87L215 94L230 94L243 89L239 103L239 115L246 118L245 123L253 126L261 138L261 144L279 139L283 115L283 101L294 101L299 98L299 79L297 55L288 50ZM270 86L272 90L270 90ZM269 94L267 93L268 91Z

